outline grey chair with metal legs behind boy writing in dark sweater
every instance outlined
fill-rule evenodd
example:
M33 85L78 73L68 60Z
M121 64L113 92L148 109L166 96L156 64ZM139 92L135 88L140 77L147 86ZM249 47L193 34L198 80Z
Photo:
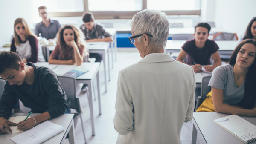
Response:
M84 131L84 124L83 124L83 119L82 119L82 109L81 109L81 105L80 105L80 101L79 101L79 96L76 95L76 79L73 77L69 77L69 76L58 76L59 81L61 82L61 86L63 87L67 98L70 100L71 104L70 104L70 108L71 109L75 109L77 115L79 115L80 120L81 120L81 124L82 124L82 130L83 130L83 135L84 135L84 141L86 143L86 137L85 137L85 131ZM88 90L87 90L87 96L88 96ZM88 96L89 98L89 96ZM92 105L89 104L90 109ZM76 117L77 115L75 115L74 117ZM76 125L76 123L75 123Z

